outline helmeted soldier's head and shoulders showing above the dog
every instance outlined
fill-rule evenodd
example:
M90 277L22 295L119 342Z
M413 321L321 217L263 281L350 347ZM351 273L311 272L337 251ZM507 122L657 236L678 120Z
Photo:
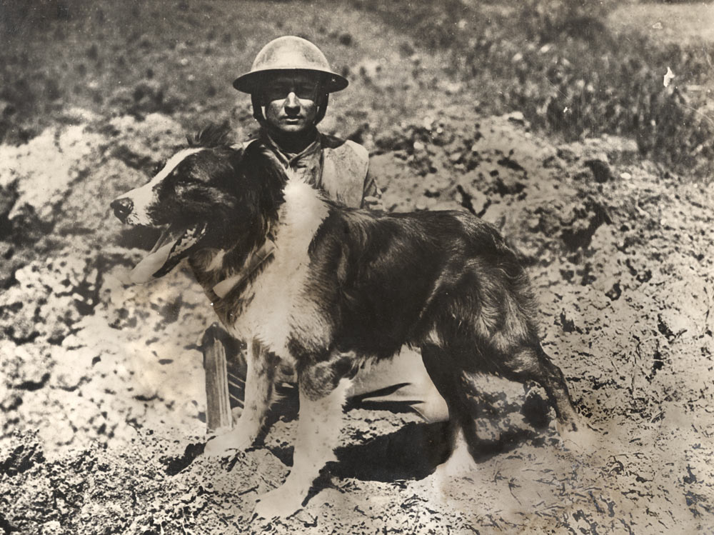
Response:
M346 206L375 206L380 192L368 174L367 150L317 129L329 94L347 85L317 46L293 36L266 44L251 71L233 82L251 95L253 116L261 125L257 141L283 166Z

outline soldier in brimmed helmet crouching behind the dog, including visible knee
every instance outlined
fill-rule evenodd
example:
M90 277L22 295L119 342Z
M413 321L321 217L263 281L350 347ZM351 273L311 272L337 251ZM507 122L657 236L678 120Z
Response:
M381 192L368 173L367 150L317 129L329 94L347 85L347 79L331 70L324 54L310 41L295 36L274 39L258 52L251 70L233 81L238 91L251 95L253 116L261 125L258 139L243 145L263 144L279 164L303 175L335 201L380 209ZM260 256L269 254L261 251ZM213 336L224 339L216 330L213 327ZM408 404L427 421L448 419L446 403L431 383L421 356L413 353L404 349L391 361L358 374L352 394L370 401ZM240 354L229 359L228 371L241 380L245 377ZM283 379L288 377L283 374Z

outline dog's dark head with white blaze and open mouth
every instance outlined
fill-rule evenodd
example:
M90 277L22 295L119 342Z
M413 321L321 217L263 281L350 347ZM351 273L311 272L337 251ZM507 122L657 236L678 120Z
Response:
M147 184L112 201L124 223L162 229L132 281L163 276L201 249L250 249L265 239L283 179L261 154L231 146L228 132L226 126L204 129Z

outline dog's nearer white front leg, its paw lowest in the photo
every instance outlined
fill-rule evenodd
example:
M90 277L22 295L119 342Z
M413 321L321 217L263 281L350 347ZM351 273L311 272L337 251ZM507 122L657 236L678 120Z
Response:
M334 376L331 363L308 366L298 372L300 413L293 469L282 486L261 496L256 504L258 516L284 518L301 509L323 466L335 460L342 407L350 383Z

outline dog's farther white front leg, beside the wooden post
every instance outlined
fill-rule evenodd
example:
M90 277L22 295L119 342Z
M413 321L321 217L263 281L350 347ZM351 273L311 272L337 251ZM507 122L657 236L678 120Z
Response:
M241 417L231 431L208 441L203 450L206 455L223 456L228 451L243 451L253 445L271 406L277 360L275 355L253 340L246 359L246 394Z

